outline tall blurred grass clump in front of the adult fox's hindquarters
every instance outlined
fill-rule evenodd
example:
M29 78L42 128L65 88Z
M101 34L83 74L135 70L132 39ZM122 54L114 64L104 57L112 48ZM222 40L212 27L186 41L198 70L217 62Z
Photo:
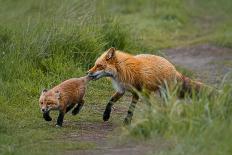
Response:
M215 91L215 90L214 90ZM126 128L139 139L163 137L171 145L156 154L231 154L232 85L227 83L220 92L204 90L191 98L178 99L170 92L168 99L149 99L142 95L140 117ZM154 150L155 151L155 150Z

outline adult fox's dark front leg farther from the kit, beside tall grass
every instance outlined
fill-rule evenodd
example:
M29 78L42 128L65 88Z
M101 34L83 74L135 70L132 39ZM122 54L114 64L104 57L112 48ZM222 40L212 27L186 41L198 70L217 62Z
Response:
M131 120L132 120L132 116L133 116L133 113L134 113L134 110L135 110L135 106L136 106L136 103L138 102L139 100L139 96L137 93L132 93L132 101L131 101L131 104L129 106L129 109L128 109L128 112L127 112L127 116L126 118L124 119L124 125L128 125L131 123Z

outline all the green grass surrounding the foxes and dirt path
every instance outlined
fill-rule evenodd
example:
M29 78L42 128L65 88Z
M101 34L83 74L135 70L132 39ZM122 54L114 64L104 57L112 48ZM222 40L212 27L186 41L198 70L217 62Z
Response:
M159 55L165 48L192 44L231 47L229 0L0 0L0 4L0 154L62 154L94 148L95 143L68 139L64 133L81 130L69 122L102 122L102 111L93 107L104 108L113 93L107 80L90 83L83 111L76 117L65 116L67 123L61 130L54 128L55 120L47 123L42 119L38 98L43 88L85 75L111 46ZM221 97L209 100L202 94L202 99L194 99L196 104L190 106L185 100L175 104L179 101L174 96L165 109L154 107L158 108L152 113L157 118L154 122L138 119L141 123L128 131L137 138L159 135L176 142L160 154L188 150L192 154L227 153L229 138L218 133L230 135L231 86L223 89ZM122 104L118 106L124 107ZM56 115L52 113L53 118ZM115 115L111 121L117 123L121 117ZM225 151L212 148L215 141L220 141L218 147Z

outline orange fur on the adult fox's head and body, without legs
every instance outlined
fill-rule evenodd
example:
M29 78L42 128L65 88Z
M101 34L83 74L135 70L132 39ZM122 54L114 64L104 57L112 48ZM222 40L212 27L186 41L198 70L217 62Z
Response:
M181 80L182 75L165 58L150 54L130 55L115 51L114 58L107 60L107 52L97 59L89 70L94 74L99 70L112 73L112 80L126 89L130 86L141 90L156 91L166 81L168 84Z

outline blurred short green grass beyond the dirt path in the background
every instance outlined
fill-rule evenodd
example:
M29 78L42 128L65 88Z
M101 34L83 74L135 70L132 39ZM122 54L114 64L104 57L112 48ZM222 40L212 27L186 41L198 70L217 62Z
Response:
M231 47L229 0L110 0L103 5L101 10L120 17L155 49L202 43Z

